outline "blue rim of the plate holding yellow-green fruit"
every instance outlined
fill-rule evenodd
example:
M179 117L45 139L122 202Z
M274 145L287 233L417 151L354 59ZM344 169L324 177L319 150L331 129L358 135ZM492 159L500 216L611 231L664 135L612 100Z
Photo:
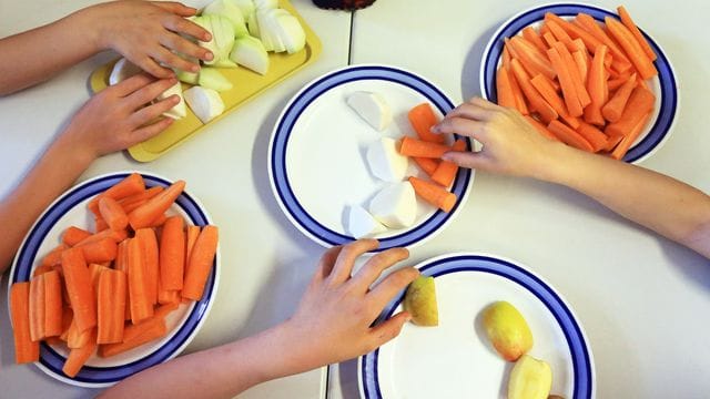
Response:
M511 260L489 255L453 254L425 260L417 268L423 276L439 277L452 273L488 273L507 278L535 295L555 316L572 359L575 388L572 398L592 398L595 390L594 362L581 326L565 300L542 279ZM383 310L377 323L392 317L404 298L404 293ZM359 358L359 388L366 399L383 399L378 381L376 349Z

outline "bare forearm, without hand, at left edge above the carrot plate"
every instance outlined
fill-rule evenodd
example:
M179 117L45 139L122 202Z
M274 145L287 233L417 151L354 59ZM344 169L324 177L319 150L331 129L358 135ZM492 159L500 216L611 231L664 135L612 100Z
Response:
M93 156L65 137L54 141L19 186L0 203L0 274L10 265L29 228L47 206L89 166Z

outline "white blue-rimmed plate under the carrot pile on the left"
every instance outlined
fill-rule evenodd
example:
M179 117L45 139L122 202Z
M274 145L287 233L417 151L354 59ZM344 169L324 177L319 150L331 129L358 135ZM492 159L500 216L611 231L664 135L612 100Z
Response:
M61 233L69 226L93 228L93 217L87 205L97 194L102 193L132 172L110 173L88 180L62 194L34 223L26 236L10 272L10 285L28 282L32 270L42 257L61 243ZM146 187L169 186L168 178L141 173ZM204 206L184 191L168 211L182 215L186 224L204 226L212 224ZM36 365L47 375L79 387L103 388L112 386L143 369L168 361L178 356L195 337L216 295L220 276L220 254L215 256L212 272L205 283L204 295L199 301L181 304L168 315L168 335L144 344L126 352L102 358L93 355L75 377L68 377L62 367L69 355L64 345L40 344L40 360Z

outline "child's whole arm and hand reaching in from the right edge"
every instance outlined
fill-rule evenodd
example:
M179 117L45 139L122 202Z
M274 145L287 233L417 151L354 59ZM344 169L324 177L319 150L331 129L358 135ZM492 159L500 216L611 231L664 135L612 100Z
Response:
M688 184L548 140L516 111L481 99L459 105L436 129L483 144L478 153L446 155L459 165L569 186L710 257L710 197Z

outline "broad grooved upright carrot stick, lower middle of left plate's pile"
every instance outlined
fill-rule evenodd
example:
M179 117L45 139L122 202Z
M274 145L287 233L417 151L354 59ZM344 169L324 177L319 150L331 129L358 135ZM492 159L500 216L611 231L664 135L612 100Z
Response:
M98 293L97 344L123 341L125 314L125 273L113 269L101 272Z

